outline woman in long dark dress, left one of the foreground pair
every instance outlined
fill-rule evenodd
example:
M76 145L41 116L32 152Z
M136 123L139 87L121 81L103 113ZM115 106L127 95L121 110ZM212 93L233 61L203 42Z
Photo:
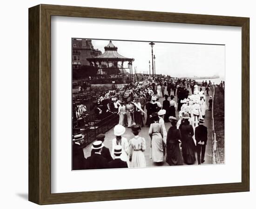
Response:
M166 151L167 157L166 162L169 165L183 165L182 155L180 150L181 143L181 132L177 129L177 119L175 117L169 117L172 126L169 128L167 132L167 140L166 140Z

